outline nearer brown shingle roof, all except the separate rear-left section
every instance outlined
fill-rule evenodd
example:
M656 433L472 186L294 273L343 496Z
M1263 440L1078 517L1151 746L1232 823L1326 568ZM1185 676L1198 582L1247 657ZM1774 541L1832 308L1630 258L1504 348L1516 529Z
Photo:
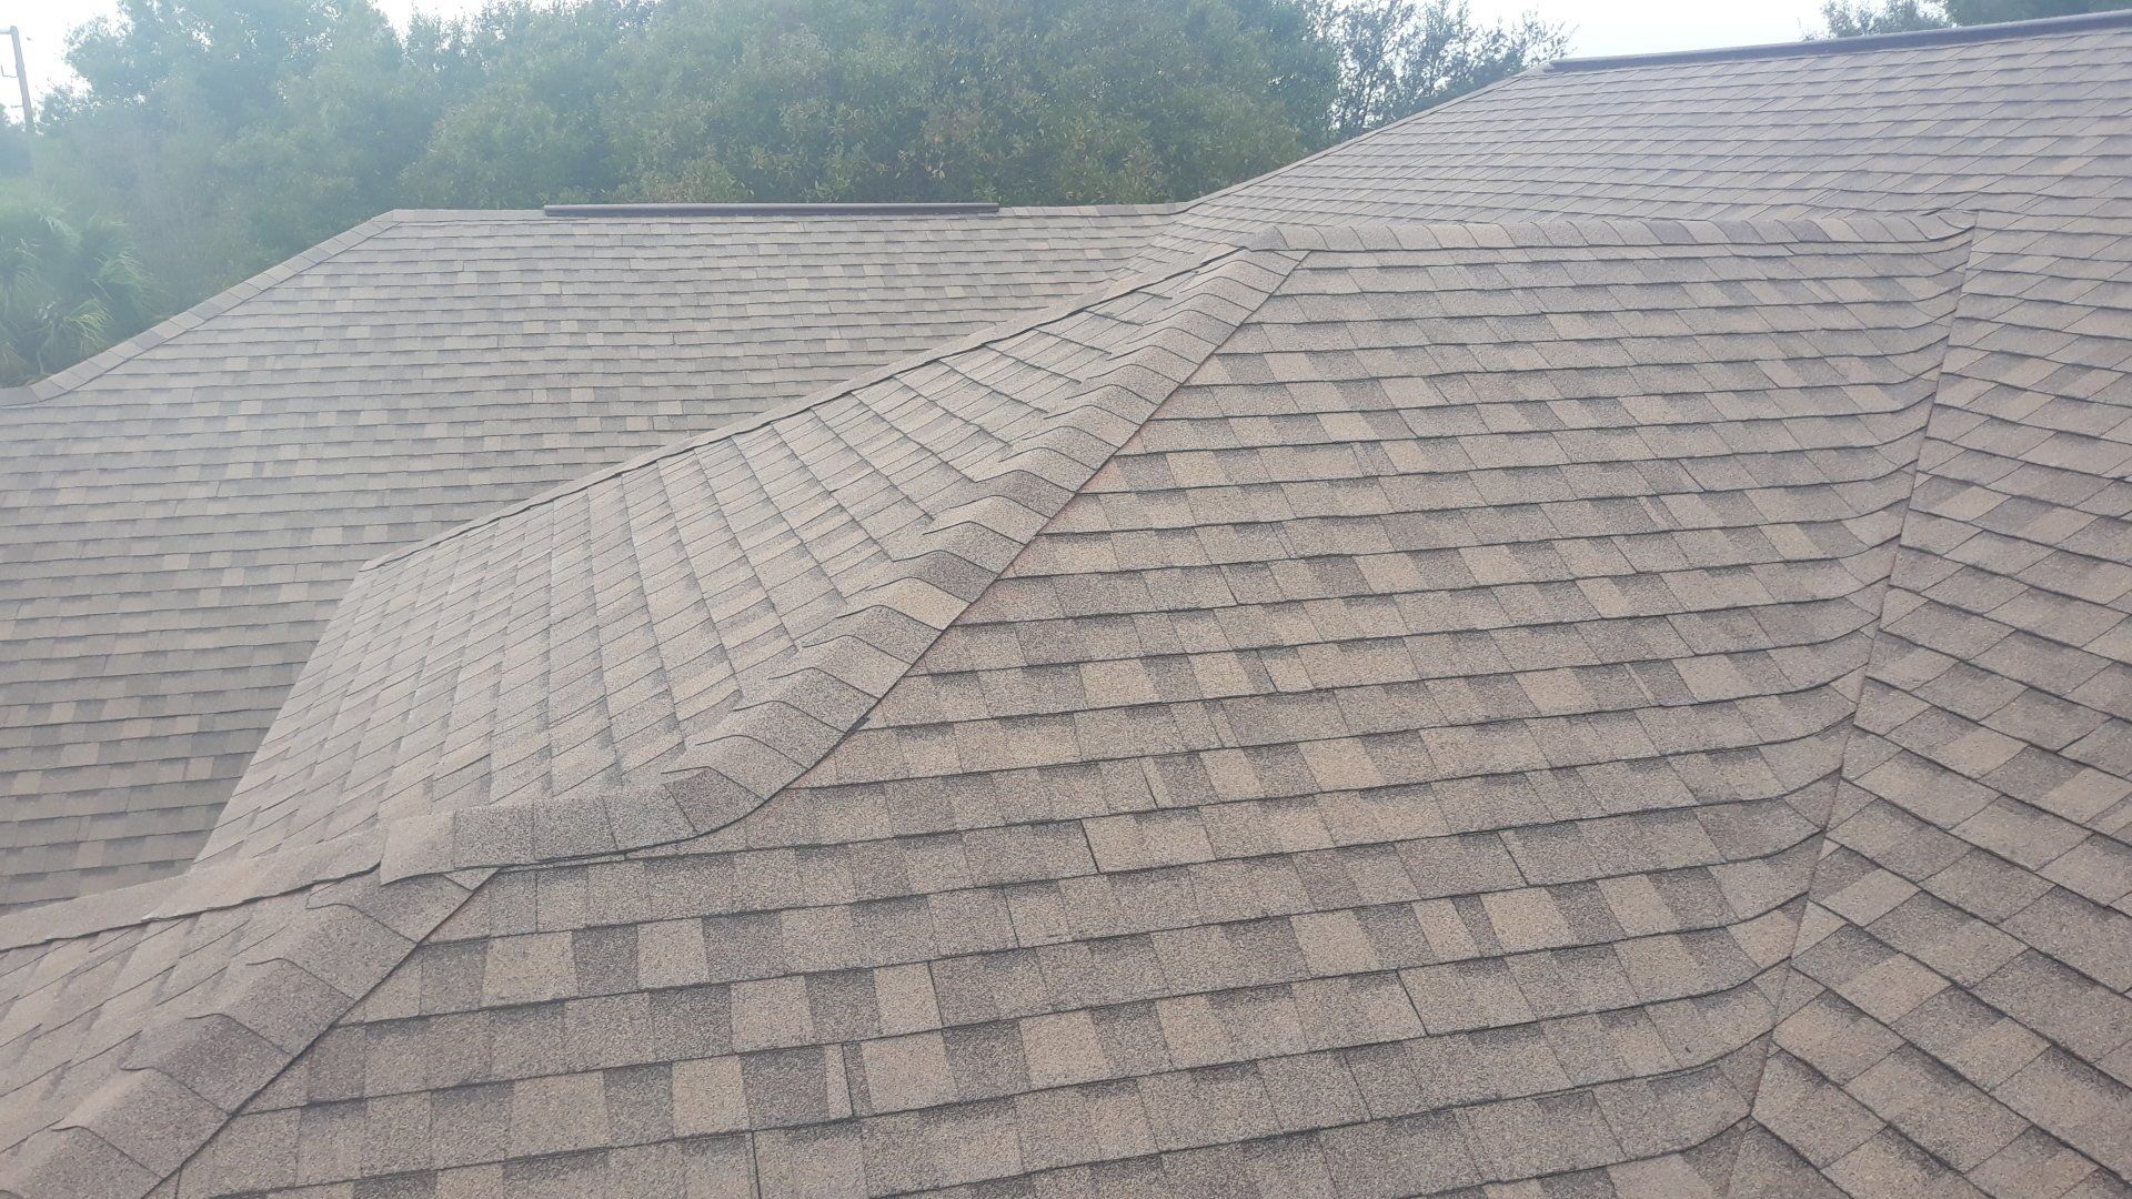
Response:
M390 550L0 1190L2126 1195L2128 124L1527 75Z

